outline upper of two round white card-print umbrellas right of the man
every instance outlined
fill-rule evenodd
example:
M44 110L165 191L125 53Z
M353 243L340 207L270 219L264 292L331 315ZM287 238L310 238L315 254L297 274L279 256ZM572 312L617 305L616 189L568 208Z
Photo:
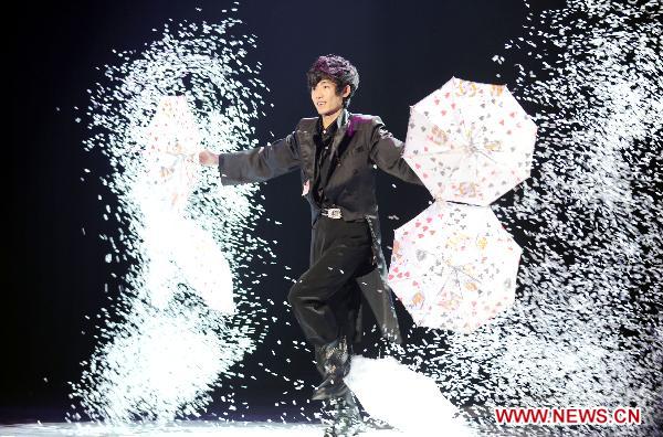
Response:
M506 86L452 77L410 108L403 157L433 198L486 206L529 177L535 140Z

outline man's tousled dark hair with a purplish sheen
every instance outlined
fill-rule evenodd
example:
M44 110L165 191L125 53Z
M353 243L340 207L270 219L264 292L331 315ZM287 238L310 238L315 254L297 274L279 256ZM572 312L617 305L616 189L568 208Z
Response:
M350 94L343 99L343 107L347 108L350 98L359 88L359 73L355 65L344 57L337 55L319 56L306 73L308 89L313 89L323 81L328 79L336 84L336 94L340 95L346 85L350 85Z

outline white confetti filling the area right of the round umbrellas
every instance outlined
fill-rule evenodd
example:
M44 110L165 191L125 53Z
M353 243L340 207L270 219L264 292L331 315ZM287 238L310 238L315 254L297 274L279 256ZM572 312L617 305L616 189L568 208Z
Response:
M569 0L493 58L515 64L539 127L533 178L494 205L524 247L516 303L470 335L415 329L401 351L454 404L638 406L641 426L565 435L660 435L662 10Z

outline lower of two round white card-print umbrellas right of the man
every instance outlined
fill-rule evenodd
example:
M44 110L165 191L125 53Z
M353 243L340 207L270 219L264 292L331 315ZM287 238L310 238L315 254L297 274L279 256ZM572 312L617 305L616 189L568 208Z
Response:
M513 303L520 254L490 207L435 202L394 231L388 280L417 324L472 332Z

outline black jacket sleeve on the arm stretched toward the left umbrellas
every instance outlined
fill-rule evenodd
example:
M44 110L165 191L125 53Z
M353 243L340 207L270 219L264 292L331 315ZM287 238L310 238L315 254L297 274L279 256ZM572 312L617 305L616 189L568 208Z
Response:
M298 167L299 148L295 132L264 147L219 154L223 185L263 182Z

